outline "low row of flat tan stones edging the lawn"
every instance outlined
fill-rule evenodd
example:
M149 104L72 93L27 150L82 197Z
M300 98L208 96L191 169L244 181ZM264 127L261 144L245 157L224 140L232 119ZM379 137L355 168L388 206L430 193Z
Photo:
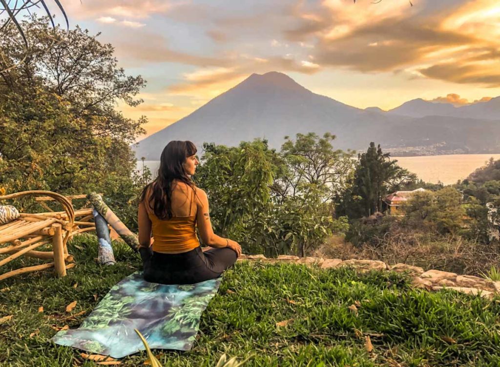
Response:
M392 270L396 272L407 271L412 276L412 285L416 288L427 290L439 290L442 288L453 289L466 294L479 294L482 297L492 298L494 293L500 293L500 281L491 281L473 275L458 275L454 272L441 270L427 270L419 266L397 263L387 265L378 260L341 260L339 258L322 257L298 257L293 255L279 255L277 258L267 258L264 255L241 254L240 260L262 260L267 262L291 262L305 265L317 265L322 269L335 268L341 266L352 266L361 271L368 270Z

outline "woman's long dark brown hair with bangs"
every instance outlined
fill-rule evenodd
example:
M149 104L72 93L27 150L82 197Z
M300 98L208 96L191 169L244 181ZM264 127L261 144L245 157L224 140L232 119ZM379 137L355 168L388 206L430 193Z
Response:
M152 188L147 204L159 219L170 219L173 216L171 197L174 179L184 182L193 190L196 187L182 165L185 159L196 154L196 151L196 145L191 141L172 140L163 148L158 175L142 189L140 194L140 201L144 201L147 191Z

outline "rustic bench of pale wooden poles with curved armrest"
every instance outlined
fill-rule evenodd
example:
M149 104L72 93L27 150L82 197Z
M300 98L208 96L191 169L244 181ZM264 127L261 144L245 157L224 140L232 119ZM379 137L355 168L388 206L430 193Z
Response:
M38 271L54 267L57 276L64 276L66 268L74 266L65 261L72 261L72 255L68 254L66 243L69 238L80 230L78 225L85 226L82 231L91 230L94 224L88 221L92 209L80 209L75 212L71 202L66 197L50 191L23 191L10 195L0 196L0 200L18 198L25 195L51 198L58 201L64 211L47 213L20 213L19 218L0 226L0 268L2 265L20 257L29 256L40 259L50 259L53 262L43 263L35 266L27 266L0 274L0 280L25 272ZM83 195L84 197L84 195ZM37 200L39 203L42 200ZM50 208L49 208L50 209ZM50 209L51 210L51 209ZM85 217L86 216L86 217ZM75 222L75 217L85 217L84 220ZM10 243L1 246L2 243ZM51 244L52 251L35 250L43 245Z

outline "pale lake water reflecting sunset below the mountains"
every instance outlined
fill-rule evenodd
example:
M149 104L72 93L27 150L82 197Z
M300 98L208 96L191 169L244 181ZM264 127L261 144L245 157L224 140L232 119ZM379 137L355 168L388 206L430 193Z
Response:
M444 184L455 183L464 179L474 169L484 165L490 158L500 159L500 154L450 154L450 155L423 155L392 157L397 159L397 164L408 169L426 182ZM153 176L159 167L158 160L145 160L144 165L149 167ZM142 169L142 161L137 162L137 169Z

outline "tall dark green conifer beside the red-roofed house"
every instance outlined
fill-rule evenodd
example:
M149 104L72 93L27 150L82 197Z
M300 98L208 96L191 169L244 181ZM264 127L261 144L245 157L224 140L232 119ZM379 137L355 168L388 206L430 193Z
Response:
M369 216L382 211L382 199L391 192L416 180L416 175L390 160L374 142L365 153L358 154L358 161L349 187L339 197L339 213L349 218Z

